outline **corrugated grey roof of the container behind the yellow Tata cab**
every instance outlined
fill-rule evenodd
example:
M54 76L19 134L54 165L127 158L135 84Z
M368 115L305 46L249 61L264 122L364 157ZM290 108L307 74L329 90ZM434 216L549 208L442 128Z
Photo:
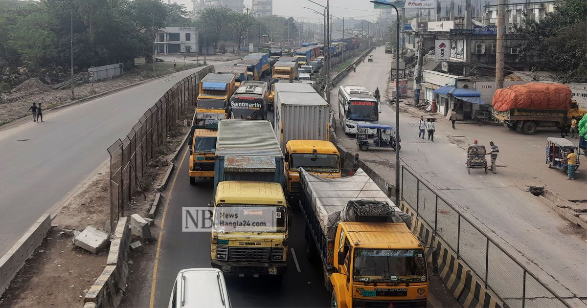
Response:
M283 157L271 123L264 120L221 120L216 155Z

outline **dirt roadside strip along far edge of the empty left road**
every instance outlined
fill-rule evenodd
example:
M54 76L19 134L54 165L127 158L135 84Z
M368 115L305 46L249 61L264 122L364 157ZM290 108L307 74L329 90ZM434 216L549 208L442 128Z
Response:
M156 63L155 70L150 64L125 72L123 76L95 83L78 84L75 87L76 99L106 92L117 87L127 86L154 76L163 76L181 70L191 69L200 65L188 64L173 67L171 62ZM12 90L12 93L0 94L0 126L23 116L31 115L27 111L33 102L42 103L43 110L52 109L71 101L71 90L52 90L50 86L38 79L29 79Z

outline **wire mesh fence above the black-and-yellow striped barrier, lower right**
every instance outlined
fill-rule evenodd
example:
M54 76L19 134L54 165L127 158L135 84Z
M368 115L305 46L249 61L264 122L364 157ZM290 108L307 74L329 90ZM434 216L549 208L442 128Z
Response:
M402 166L402 200L509 307L571 307L473 222Z

